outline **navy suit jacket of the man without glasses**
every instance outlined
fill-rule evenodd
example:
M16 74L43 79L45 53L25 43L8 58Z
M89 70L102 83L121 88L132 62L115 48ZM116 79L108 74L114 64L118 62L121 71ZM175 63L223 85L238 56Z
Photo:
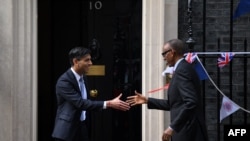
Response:
M86 89L88 90L87 85ZM78 80L71 69L57 80L56 98L57 112L52 137L63 140L72 140L75 136L77 127L80 125L82 110L101 110L104 104L104 101L82 99Z

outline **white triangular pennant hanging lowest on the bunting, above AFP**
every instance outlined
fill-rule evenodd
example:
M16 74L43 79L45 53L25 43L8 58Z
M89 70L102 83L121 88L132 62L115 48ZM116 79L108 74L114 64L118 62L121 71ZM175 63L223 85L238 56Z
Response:
M228 97L223 96L221 109L220 109L220 122L226 118L227 116L231 115L232 113L236 112L240 109L240 106L235 104L232 100Z

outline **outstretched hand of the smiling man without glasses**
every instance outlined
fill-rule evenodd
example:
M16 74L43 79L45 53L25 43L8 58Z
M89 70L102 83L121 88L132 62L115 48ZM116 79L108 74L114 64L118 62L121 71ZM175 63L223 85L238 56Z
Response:
M107 107L121 110L121 111L129 110L130 109L129 103L120 100L121 96L122 94L120 94L119 96L117 96L116 98L112 100L107 101Z

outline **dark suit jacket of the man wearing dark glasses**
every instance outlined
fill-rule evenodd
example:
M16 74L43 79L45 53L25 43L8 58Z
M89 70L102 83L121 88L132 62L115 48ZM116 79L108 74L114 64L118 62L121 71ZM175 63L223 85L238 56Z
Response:
M191 64L181 60L170 81L168 100L148 99L149 109L169 110L173 141L207 141L200 80Z

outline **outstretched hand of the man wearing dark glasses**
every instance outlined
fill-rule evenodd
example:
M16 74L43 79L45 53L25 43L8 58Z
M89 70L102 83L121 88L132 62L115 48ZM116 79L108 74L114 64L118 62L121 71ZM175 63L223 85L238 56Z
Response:
M138 93L137 91L135 91L135 95L127 97L126 102L129 103L131 106L135 106L135 105L147 103L148 99L145 96L143 96L141 93Z

